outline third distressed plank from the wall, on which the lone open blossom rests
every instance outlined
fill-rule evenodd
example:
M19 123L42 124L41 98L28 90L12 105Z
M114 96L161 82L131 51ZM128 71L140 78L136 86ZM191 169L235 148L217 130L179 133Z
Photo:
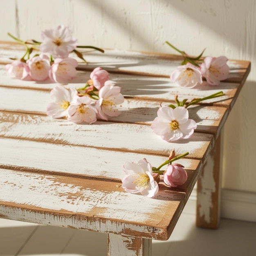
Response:
M14 91L15 90L15 91ZM14 93L15 92L15 93ZM0 87L0 110L18 111L35 114L46 114L47 104L51 102L48 91L13 89ZM26 99L26 104L20 104L20 100ZM162 103L168 106L171 102ZM157 117L160 102L125 99L120 110L119 117L110 117L110 121L151 124ZM226 108L214 106L195 105L188 108L189 116L198 125L198 132L218 133L222 122L227 118Z

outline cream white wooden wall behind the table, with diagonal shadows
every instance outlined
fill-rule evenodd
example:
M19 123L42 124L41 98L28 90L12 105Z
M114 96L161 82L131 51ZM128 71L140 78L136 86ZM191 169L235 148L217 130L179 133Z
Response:
M40 40L40 31L69 25L80 45L252 61L252 70L225 125L226 189L256 192L255 0L0 0L0 40L6 33Z

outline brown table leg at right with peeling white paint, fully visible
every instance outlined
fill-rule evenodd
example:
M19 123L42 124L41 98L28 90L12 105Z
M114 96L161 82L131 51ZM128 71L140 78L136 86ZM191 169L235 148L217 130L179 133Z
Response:
M216 229L219 225L222 174L221 137L220 134L198 178L196 213L198 227Z

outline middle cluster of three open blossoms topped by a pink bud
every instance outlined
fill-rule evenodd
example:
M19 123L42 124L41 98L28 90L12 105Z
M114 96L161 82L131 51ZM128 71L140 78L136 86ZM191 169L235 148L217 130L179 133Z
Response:
M97 67L84 88L75 90L57 85L50 93L53 102L47 106L47 115L53 118L67 117L76 124L94 123L97 115L104 120L117 117L121 113L117 105L124 102L124 96L120 93L121 88L108 79L108 72Z

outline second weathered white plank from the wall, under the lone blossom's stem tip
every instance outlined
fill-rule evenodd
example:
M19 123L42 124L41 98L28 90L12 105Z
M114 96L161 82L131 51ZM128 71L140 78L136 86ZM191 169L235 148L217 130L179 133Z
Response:
M66 88L81 88L84 87L86 81L90 77L90 72L79 72L75 79L70 83L65 84ZM131 76L127 74L111 74L110 79L117 82L117 85L121 87L121 93L126 98L142 99L148 101L159 102L174 102L174 95L178 95L180 100L188 99L191 101L195 98L207 97L213 93L223 91L224 96L217 99L209 99L200 103L200 105L211 104L213 106L223 106L231 108L234 105L238 92L241 89L239 83L220 83L219 86L201 85L196 86L193 89L182 88L171 82L167 78L148 77L148 76ZM0 69L0 90L11 90L9 92L1 92L15 97L13 90L17 91L17 97L20 90L24 89L37 89L48 91L53 89L57 84L52 83L49 79L43 82L35 81L21 81L19 79L11 79L4 70L3 66ZM204 82L205 83L205 82ZM4 88L2 88L4 87ZM20 88L20 89L18 89ZM27 94L27 93L26 93ZM29 98L29 95L24 95L25 98Z

